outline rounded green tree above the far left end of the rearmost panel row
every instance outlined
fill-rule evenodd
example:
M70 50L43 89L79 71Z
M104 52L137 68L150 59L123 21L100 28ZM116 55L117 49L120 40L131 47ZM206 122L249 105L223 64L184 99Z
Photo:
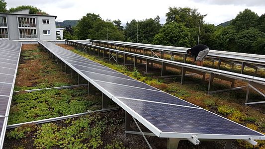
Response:
M123 41L124 36L112 21L96 20L93 27L89 29L88 38L95 40L118 40Z

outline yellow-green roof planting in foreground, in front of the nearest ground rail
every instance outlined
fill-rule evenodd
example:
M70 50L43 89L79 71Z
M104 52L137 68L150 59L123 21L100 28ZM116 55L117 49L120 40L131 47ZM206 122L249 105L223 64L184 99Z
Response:
M12 141L32 137L31 147L35 149L126 149L120 140L103 142L104 136L117 131L117 126L123 122L124 119L117 120L106 114L95 113L62 120L60 123L21 126L8 132L7 137ZM15 147L23 149L26 145Z

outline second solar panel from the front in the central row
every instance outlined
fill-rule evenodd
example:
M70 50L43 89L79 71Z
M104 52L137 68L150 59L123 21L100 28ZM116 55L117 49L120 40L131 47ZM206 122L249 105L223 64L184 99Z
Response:
M191 103L188 103L182 99L179 99L165 92L134 88L130 86L121 86L117 84L111 84L100 81L95 81L95 82L116 97L142 99L148 101L164 102L170 104L195 107Z

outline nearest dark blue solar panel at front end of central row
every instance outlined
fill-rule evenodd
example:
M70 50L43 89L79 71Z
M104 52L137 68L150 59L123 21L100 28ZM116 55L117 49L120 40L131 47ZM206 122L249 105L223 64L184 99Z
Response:
M118 99L162 132L263 136L204 109Z

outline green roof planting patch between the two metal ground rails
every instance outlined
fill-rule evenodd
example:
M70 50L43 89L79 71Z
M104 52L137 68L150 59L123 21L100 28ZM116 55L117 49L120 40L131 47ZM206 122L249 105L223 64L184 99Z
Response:
M16 94L12 98L8 125L99 109L99 98L88 97L84 87Z

